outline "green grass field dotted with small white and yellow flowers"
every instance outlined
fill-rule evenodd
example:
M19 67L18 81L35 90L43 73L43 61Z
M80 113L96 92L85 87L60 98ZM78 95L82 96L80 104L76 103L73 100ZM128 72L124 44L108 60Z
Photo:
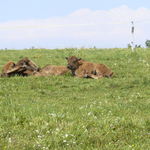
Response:
M71 55L115 76L0 78L0 149L150 149L150 49L1 50L0 70L24 57L67 65Z

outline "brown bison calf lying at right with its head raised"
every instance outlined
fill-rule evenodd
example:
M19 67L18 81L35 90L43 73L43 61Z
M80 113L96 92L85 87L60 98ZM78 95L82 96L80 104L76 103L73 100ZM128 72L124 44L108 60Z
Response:
M114 75L114 72L103 64L87 62L75 56L66 57L66 59L68 60L67 68L74 77L102 79L103 77L110 78Z

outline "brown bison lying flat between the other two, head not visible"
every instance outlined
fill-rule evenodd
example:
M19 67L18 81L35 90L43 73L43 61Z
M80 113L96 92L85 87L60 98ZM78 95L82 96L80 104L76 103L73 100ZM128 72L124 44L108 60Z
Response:
M55 66L55 65L48 65L40 69L39 71L35 71L33 73L33 76L58 76L58 75L63 75L68 71L68 68L66 66Z

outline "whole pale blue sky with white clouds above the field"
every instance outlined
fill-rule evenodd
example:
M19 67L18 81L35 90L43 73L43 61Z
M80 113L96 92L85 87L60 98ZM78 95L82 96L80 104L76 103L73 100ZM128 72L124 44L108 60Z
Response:
M131 21L139 22L135 44L145 46L150 39L148 0L5 0L0 5L0 49L126 47ZM20 26L26 28L3 28Z

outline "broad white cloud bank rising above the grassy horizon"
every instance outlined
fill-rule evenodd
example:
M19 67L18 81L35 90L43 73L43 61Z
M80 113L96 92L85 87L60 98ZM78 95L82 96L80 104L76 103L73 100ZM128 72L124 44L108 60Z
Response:
M126 47L132 40L131 21L135 22L135 44L144 46L146 39L150 39L149 23L144 23L150 21L150 10L144 7L131 10L123 5L108 11L84 8L66 17L1 22L0 49L54 48L59 45Z

